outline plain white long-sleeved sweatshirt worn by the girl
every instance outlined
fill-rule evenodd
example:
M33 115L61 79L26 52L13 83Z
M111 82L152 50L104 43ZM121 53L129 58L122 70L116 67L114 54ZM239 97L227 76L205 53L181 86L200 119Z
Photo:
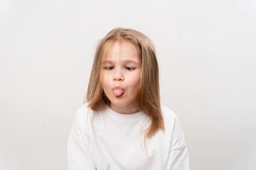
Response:
M67 141L69 170L189 170L189 156L177 116L161 106L165 131L145 138L144 111L119 114L83 104Z

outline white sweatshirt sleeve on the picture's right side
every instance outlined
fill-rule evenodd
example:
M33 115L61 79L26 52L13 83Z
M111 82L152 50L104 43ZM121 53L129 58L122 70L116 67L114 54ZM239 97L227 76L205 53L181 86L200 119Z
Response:
M166 170L189 170L189 155L179 119L176 117L173 127L171 150Z

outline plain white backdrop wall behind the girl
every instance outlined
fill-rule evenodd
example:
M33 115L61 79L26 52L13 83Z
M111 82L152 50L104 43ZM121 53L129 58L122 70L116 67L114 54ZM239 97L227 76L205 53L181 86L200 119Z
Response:
M254 0L1 0L0 170L67 170L94 50L118 26L153 40L191 170L255 170Z

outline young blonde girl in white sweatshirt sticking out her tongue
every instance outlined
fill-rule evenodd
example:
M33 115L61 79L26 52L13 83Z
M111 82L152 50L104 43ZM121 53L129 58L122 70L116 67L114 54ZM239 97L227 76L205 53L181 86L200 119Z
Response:
M101 40L67 141L69 170L189 170L180 121L160 105L158 74L144 34L117 28Z

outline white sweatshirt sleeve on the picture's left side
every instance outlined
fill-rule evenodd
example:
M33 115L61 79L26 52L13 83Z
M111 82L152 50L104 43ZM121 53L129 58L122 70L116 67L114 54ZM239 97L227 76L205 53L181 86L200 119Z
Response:
M88 135L82 135L81 132L81 127L86 127L86 121L81 121L77 112L67 140L67 167L68 170L96 170L89 150Z

